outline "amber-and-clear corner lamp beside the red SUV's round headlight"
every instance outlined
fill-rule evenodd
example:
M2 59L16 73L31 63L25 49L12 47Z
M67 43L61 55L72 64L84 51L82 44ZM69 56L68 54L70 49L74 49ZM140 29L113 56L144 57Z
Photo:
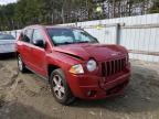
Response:
M83 66L81 64L74 65L74 66L71 67L70 73L84 74Z

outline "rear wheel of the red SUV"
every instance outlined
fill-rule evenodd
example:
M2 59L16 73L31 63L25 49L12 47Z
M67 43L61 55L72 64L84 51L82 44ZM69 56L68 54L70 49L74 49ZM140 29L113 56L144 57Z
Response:
M18 55L18 67L21 73L25 73L26 68L20 54Z

